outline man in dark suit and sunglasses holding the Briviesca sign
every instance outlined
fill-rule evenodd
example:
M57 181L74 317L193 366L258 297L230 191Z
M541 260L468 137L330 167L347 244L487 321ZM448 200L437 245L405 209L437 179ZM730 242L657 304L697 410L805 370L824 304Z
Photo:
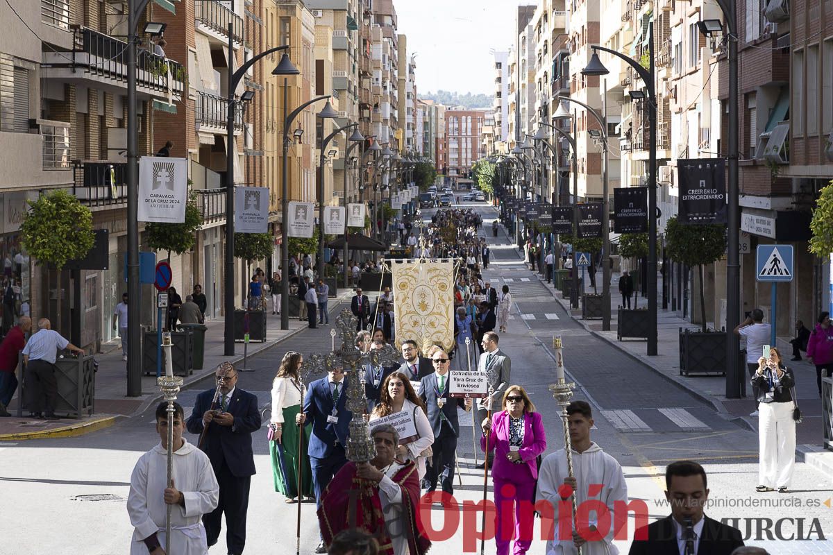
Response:
M426 404L428 421L434 431L434 456L426 469L422 487L429 492L434 491L439 478L442 491L452 495L457 436L460 435L457 407L471 410L471 399L451 399L448 396L449 359L446 351L437 349L431 355L431 361L436 371L421 379L416 393Z

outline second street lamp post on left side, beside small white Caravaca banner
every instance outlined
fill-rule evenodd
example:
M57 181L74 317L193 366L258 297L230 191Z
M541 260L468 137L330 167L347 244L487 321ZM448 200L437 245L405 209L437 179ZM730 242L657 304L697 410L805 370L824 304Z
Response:
M283 158L281 161L281 330L289 330L289 227L288 227L288 213L289 213L289 185L287 183L287 155L289 153L289 128L292 126L292 121L295 120L298 114L311 105L313 102L318 102L329 98L329 95L322 97L315 97L310 101L304 102L292 112L289 111L289 75L297 75L298 70L289 62L289 57L286 54L281 59L281 64L278 69L284 65L286 60L287 65L280 73L272 72L272 74L283 75ZM294 71L293 71L294 70ZM277 71L277 70L276 70ZM330 101L324 105L322 111L318 112L318 117L334 118L338 116L338 112L332 109Z

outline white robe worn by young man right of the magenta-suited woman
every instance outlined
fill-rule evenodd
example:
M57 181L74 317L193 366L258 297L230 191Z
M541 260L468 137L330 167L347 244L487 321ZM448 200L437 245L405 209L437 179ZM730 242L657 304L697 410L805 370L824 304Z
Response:
M582 555L616 555L619 550L611 543L616 532L613 526L615 520L613 503L616 501L627 503L627 485L621 466L615 458L602 451L596 444L591 444L590 448L584 453L578 453L573 449L572 459L573 473L576 478L576 502L581 505L587 499L596 499L605 504L611 516L610 529L600 530L600 532L606 532L605 537L600 541L585 543L581 548L581 553ZM568 476L566 451L564 449L559 449L555 453L547 455L541 463L541 469L538 471L536 501L549 501L555 509L554 538L546 543L546 555L575 555L576 553L576 545L572 538L560 539L558 537L560 516L558 508L559 503L561 503L558 488L564 483L564 478ZM588 496L588 486L591 484L602 484L601 492L598 495ZM570 506L572 507L572 502ZM571 520L571 513L565 515L565 518ZM594 512L591 512L589 516L591 521L596 519L596 513ZM572 528L575 529L575 526Z

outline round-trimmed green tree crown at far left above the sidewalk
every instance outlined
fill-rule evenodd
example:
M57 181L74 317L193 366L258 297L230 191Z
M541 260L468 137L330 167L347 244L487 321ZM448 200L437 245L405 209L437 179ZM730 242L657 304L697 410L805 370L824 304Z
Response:
M46 262L60 271L67 260L81 259L92 249L92 211L75 196L57 190L27 202L30 210L20 234L37 265Z

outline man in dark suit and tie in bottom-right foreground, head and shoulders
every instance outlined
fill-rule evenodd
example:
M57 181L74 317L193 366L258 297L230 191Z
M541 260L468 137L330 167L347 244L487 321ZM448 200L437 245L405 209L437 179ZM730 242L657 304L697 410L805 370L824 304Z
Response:
M730 555L743 545L741 531L706 517L706 471L692 461L666 468L671 515L636 530L630 555Z

